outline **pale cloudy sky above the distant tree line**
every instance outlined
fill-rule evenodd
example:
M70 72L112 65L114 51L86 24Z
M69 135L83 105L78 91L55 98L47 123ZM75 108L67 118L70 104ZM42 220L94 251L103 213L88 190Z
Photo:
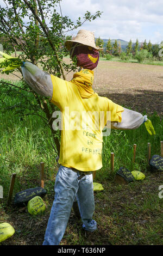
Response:
M2 7L4 1L0 0ZM72 21L84 17L86 11L95 14L102 11L101 17L86 22L79 29L93 31L101 39L122 39L135 42L151 40L160 44L163 40L163 4L162 0L62 0L63 16ZM76 35L77 31L69 33Z

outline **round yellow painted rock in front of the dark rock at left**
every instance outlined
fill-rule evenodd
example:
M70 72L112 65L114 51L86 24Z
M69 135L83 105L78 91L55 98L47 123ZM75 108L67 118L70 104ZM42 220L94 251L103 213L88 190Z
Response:
M45 203L43 202L42 198L38 196L30 199L27 207L28 212L31 215L42 214L46 209Z

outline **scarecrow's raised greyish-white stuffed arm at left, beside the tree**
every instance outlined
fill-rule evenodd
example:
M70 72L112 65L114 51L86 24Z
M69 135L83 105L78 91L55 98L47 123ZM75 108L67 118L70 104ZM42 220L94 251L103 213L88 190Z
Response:
M32 89L41 96L50 97L53 95L53 84L51 75L43 72L32 63L25 62L22 66L22 74Z

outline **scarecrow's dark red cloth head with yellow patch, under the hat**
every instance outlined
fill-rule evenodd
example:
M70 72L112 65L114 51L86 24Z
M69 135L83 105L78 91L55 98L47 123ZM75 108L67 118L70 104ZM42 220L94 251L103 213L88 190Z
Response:
M89 70L95 69L99 60L99 52L95 48L82 44L73 46L70 56L71 58L77 56L77 65Z

